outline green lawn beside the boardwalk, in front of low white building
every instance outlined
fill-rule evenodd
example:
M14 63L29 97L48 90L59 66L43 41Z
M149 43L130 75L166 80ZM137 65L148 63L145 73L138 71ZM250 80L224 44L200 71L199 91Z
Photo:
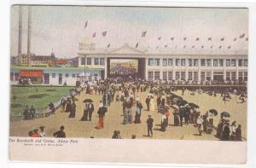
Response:
M45 108L49 102L60 100L61 96L66 96L73 87L48 87L48 86L11 86L10 90L10 112L13 114L23 113L26 105L35 108ZM37 93L38 90L38 93ZM14 100L14 96L16 99ZM35 98L36 97L36 98Z

